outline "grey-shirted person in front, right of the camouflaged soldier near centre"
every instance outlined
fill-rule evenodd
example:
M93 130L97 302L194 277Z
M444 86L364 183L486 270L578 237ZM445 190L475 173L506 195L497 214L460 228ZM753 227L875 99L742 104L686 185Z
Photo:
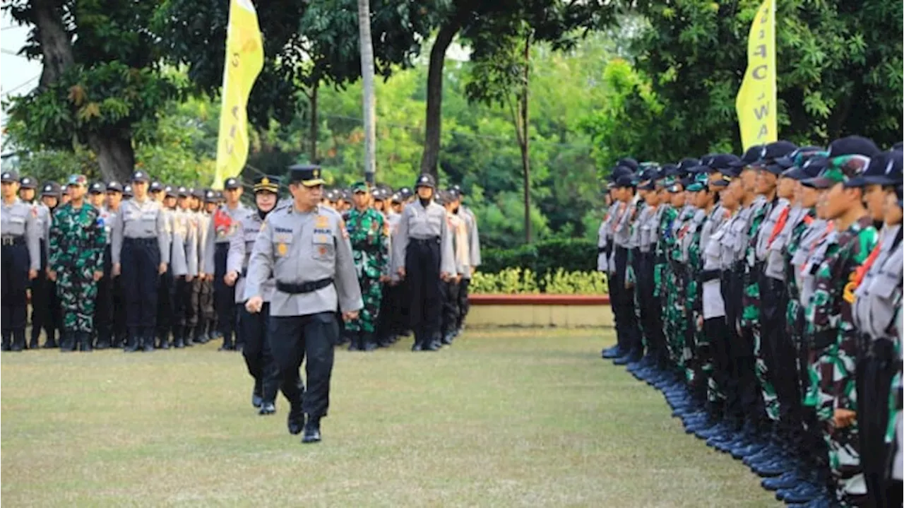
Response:
M408 282L410 325L414 331L411 351L439 351L440 283L456 272L452 236L446 210L434 202L436 182L421 174L415 183L417 202L405 207L393 239L396 272Z

